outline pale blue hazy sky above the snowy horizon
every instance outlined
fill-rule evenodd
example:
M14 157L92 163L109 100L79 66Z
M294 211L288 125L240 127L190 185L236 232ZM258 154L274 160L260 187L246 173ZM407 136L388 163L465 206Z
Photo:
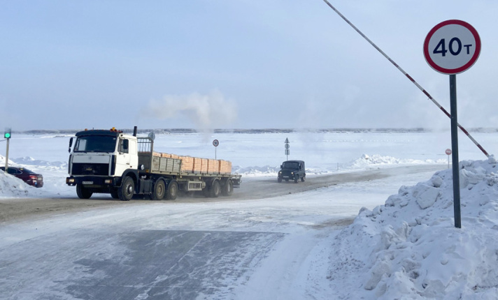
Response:
M459 121L498 127L497 1L330 2L448 111L423 41L472 24ZM0 38L0 128L449 128L322 0L1 0Z

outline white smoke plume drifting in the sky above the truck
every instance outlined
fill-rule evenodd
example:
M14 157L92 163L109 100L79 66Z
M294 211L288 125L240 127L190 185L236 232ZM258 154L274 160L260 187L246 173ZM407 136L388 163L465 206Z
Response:
M198 129L221 128L237 117L235 103L226 100L220 91L213 91L208 95L166 95L161 100L150 100L142 113L157 119L178 119L185 116Z

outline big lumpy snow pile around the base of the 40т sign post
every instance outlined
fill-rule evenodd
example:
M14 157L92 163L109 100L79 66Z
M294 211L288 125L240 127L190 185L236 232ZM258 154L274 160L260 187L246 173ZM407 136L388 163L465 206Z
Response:
M361 209L332 245L332 285L348 299L496 299L497 171L492 157L460 163L461 229L451 170Z

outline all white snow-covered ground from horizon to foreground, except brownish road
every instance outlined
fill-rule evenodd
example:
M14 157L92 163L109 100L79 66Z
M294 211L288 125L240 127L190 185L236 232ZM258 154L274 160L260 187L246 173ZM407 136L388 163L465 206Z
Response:
M497 149L497 133L474 137ZM404 165L441 171L262 200L141 200L1 224L0 299L497 299L497 163L467 137L462 229L453 226L449 132L164 134L155 147L231 160L242 184L276 182L286 138L289 159L306 161L308 181ZM76 198L65 185L68 144L68 136L14 135L11 165L40 172L45 186L0 171L1 200ZM5 142L0 155L3 165ZM181 252L174 241L191 244Z

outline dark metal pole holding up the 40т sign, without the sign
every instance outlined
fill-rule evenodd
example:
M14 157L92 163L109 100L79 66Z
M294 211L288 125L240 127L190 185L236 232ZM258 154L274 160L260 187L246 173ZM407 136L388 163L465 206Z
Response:
M453 211L455 227L462 228L460 216L460 165L458 163L457 75L450 75L451 157L453 163Z

